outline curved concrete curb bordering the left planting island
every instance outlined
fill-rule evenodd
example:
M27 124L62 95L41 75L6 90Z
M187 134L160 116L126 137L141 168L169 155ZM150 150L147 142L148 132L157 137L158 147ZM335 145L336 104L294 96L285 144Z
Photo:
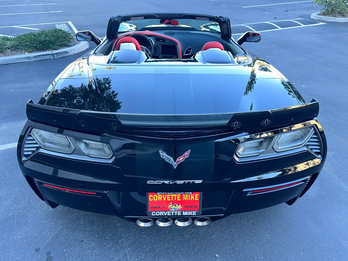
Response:
M84 41L84 42L80 42L77 45L64 48L64 49L54 50L54 51L4 56L4 57L0 57L0 65L59 58L63 56L77 54L79 52L86 50L88 47L89 47L88 42Z

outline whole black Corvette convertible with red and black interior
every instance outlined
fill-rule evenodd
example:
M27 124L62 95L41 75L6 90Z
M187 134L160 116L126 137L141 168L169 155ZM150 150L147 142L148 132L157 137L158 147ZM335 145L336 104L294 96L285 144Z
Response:
M318 102L235 41L227 17L111 17L106 37L26 105L17 156L55 208L140 226L206 225L293 204L323 168Z

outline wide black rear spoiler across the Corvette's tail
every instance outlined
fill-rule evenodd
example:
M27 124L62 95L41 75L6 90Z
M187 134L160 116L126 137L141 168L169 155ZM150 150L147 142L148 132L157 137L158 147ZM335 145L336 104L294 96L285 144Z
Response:
M293 125L314 119L319 113L316 99L310 103L267 111L248 111L214 114L126 114L65 109L53 106L26 104L31 121L93 133L115 133L122 127L192 128L227 126L238 132L251 132Z

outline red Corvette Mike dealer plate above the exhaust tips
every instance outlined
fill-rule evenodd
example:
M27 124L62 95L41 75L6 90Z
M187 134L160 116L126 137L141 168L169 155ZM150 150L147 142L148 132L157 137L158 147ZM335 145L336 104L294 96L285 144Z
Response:
M201 214L201 192L147 193L149 216L196 216Z

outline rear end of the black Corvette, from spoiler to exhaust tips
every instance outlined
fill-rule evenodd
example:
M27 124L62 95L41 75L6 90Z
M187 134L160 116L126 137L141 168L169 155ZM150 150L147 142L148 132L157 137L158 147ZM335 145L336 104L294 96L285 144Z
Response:
M28 103L17 156L51 207L140 226L206 225L306 193L326 157L317 111L314 101L248 114L134 116Z

